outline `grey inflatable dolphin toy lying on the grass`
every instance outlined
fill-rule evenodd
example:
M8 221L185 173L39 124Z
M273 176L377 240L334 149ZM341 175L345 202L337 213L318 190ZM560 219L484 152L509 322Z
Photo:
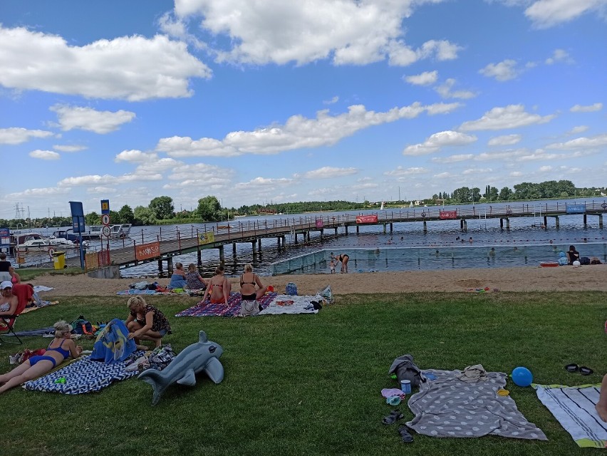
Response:
M200 371L207 373L215 383L220 383L224 379L224 366L219 361L222 353L224 349L217 343L210 342L207 334L200 331L198 342L184 348L164 370L146 369L138 378L152 385L152 405L156 405L172 383L195 385L196 374Z

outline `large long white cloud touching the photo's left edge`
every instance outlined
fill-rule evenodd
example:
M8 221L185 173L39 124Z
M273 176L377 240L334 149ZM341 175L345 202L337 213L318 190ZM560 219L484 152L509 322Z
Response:
M211 71L167 36L123 36L70 46L61 36L0 26L0 84L130 101L192 95L190 78Z

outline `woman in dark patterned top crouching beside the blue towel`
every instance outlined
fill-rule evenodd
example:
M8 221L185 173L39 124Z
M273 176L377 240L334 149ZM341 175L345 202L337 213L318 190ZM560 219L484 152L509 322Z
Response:
M127 301L130 314L126 320L128 338L135 339L138 350L147 350L140 341L153 341L156 347L162 338L171 333L171 325L161 311L145 302L142 296L133 296Z

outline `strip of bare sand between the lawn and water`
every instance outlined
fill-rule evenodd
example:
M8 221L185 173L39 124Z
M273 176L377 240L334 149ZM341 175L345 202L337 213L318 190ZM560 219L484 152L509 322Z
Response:
M238 278L230 277L232 290L238 291ZM142 279L167 285L169 279ZM59 296L115 296L128 289L137 279L93 279L85 274L62 276L47 274L30 281L52 287L42 291L42 299ZM457 269L437 271L395 271L354 274L311 274L261 276L264 284L284 292L289 282L296 284L300 295L312 295L326 285L333 294L410 293L417 291L469 291L489 287L491 291L607 291L607 264L594 266L541 267L503 269Z

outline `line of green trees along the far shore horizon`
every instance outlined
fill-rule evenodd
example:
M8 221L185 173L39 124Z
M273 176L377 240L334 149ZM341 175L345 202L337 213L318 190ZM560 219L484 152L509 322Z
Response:
M584 187L576 188L570 180L549 180L535 184L522 182L514 185L514 190L503 187L497 190L492 185L484 187L484 192L478 187L460 187L453 192L439 192L432 198L425 199L426 204L457 204L483 201L522 201L528 199L551 199L569 197L598 197L604 192L603 188ZM396 204L408 204L408 201L399 201ZM394 203L393 203L394 204ZM132 209L125 204L118 211L110 210L110 223L130 223L134 225L176 224L176 223L202 223L221 222L234 219L236 215L257 214L301 214L304 212L321 211L349 211L363 210L377 207L378 203L351 202L351 201L301 201L267 204L243 205L238 209L222 207L219 199L212 195L198 200L198 206L191 211L180 210L175 212L175 204L171 197L155 197L147 206L137 206ZM101 224L101 214L90 212L85 214L85 224ZM0 219L0 227L30 228L30 227L71 227L71 217L42 217L38 219Z

